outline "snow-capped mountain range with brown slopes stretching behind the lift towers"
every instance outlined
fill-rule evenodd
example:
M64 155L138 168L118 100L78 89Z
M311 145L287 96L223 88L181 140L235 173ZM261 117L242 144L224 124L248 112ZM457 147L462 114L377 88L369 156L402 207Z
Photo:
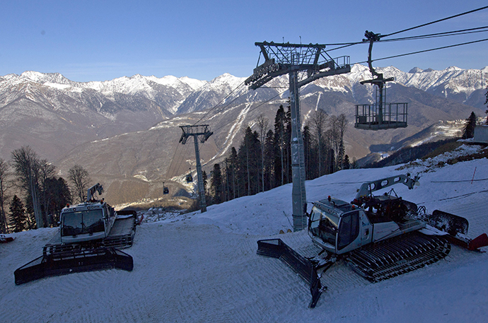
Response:
M351 159L453 136L462 126L459 120L472 111L484 116L488 66L408 73L389 66L377 71L395 79L388 83L386 100L408 102L407 128L353 127L354 105L371 103L375 95L371 85L360 84L371 79L366 66L354 65L349 74L301 88L303 124L317 109L347 116L345 143ZM178 143L178 126L210 125L214 134L200 150L209 172L229 148L238 147L243 129L255 127L260 114L272 127L279 105L287 105L287 76L257 90L248 90L244 80L230 74L211 81L135 75L86 83L35 71L0 76L0 158L8 160L11 151L28 145L56 165L59 175L66 176L74 163L82 165L93 180L106 182L112 203L162 196L164 181L173 185L173 192L182 192L184 181L179 179L194 170L194 148Z

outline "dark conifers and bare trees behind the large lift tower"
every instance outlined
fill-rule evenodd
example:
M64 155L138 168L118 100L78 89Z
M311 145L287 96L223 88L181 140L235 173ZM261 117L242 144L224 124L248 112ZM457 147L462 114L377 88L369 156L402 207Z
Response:
M344 114L327 115L316 110L303 127L303 151L306 180L352 167L345 154ZM292 182L291 174L291 112L280 105L274 124L263 114L257 118L256 130L245 128L243 141L231 148L222 163L210 172L209 204L265 192ZM355 161L354 161L355 163Z

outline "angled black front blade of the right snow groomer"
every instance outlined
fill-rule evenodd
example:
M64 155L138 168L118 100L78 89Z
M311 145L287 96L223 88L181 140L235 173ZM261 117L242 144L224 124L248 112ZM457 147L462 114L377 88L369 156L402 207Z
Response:
M257 254L281 259L282 262L293 269L310 286L312 300L308 307L313 308L317 305L320 294L322 293L322 284L320 283L315 266L308 259L298 254L294 249L291 249L281 239L257 241Z

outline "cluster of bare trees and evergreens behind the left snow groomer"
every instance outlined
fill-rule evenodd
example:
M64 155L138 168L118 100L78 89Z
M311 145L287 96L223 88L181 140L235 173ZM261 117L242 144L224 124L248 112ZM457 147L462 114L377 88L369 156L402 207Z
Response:
M68 181L41 159L30 146L0 158L0 233L20 232L57 225L66 204L84 201L90 184L81 165L69 169Z

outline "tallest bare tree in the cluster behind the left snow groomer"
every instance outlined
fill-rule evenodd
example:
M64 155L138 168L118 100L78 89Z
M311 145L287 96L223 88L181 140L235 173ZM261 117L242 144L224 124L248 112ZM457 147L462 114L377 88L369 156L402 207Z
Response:
M39 200L39 157L29 146L22 146L12 151L12 163L21 189L30 195L37 228L42 228L44 223Z

